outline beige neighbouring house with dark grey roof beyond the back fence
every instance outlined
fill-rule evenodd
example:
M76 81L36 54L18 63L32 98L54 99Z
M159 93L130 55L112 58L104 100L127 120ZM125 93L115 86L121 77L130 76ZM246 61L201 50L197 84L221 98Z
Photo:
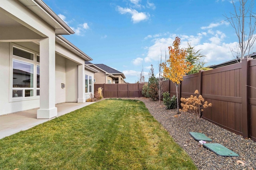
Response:
M94 74L95 84L126 83L126 81L124 80L124 78L126 78L124 76L124 73L115 70L114 68L106 66L105 64L92 64L89 61L86 61L85 63L99 71Z

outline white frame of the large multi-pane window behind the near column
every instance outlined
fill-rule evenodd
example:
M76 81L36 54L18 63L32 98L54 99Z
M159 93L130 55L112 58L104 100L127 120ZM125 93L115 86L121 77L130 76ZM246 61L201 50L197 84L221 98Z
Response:
M19 57L13 55L13 47L20 49L22 51L26 51L28 53L32 53L34 55L33 60L25 59L23 57ZM36 78L37 78L37 66L40 66L40 63L36 61L36 55L40 56L36 51L32 51L20 45L10 43L10 81L9 81L9 102L18 102L18 101L26 101L26 100L36 100L40 99L40 96L36 96L36 90L40 90L40 88L36 87ZM32 88L14 88L13 87L13 61L21 61L23 63L33 64L33 87ZM22 97L12 97L12 90L22 90ZM25 90L33 90L33 96L25 97Z

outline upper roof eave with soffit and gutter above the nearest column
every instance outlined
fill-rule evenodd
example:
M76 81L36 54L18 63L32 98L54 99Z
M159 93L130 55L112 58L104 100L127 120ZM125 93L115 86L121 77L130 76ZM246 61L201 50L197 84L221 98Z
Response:
M40 16L55 29L56 35L70 35L75 32L55 14L42 0L18 0L26 8Z

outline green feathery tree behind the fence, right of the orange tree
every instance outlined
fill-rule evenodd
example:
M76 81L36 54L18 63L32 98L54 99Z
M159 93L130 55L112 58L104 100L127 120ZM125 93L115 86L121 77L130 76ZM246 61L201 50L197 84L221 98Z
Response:
M186 61L189 62L191 65L193 65L193 68L188 72L188 74L194 74L199 72L202 68L204 68L204 61L200 61L201 58L206 57L205 55L202 55L200 53L201 49L196 51L194 47L191 46L190 43L188 43L188 47L186 48L187 56Z

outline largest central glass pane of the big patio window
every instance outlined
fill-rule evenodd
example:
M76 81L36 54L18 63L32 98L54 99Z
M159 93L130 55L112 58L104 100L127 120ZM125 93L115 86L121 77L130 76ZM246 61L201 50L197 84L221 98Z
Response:
M14 88L33 88L34 64L13 60L13 80Z

